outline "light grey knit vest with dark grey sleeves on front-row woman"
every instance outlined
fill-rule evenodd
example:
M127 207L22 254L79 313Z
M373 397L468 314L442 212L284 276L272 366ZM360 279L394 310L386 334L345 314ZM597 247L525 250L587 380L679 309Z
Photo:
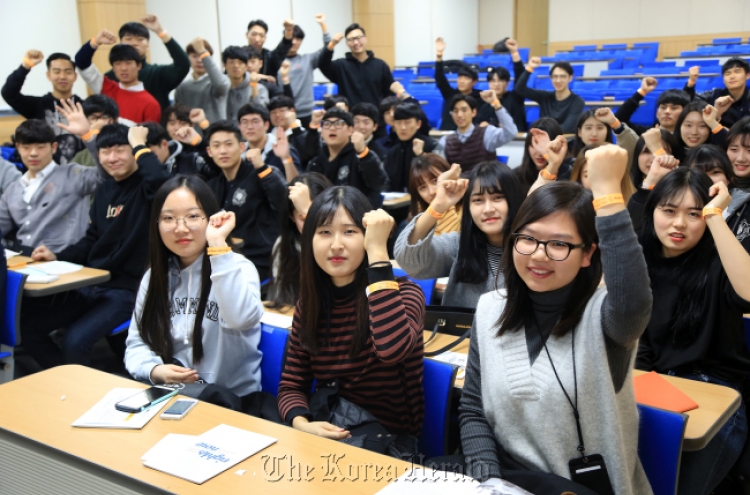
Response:
M632 383L634 351L651 315L648 271L626 211L597 217L596 226L606 288L591 297L575 332L550 336L547 347L572 396L575 334L586 451L604 457L615 493L648 495L651 488L638 460ZM478 479L502 477L497 454L501 445L530 470L568 478L568 461L577 457L578 446L572 409L547 353L542 351L530 363L524 329L496 337L506 297L504 290L482 296L472 328L459 408L468 474ZM619 348L618 359L626 360L625 379L619 387L609 363L613 344Z

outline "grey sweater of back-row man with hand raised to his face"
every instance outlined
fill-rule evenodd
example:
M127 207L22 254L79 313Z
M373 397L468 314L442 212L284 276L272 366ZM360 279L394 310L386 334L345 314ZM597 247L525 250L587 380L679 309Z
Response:
M203 67L206 73L201 77L195 79L189 75L177 86L174 101L190 108L202 108L209 122L226 119L229 77L210 56L203 58Z

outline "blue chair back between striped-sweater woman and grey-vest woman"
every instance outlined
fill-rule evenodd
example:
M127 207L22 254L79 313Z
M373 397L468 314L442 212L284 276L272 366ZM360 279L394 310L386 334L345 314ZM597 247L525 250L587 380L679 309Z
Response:
M427 458L448 454L448 423L457 372L452 364L424 360L424 421L419 451Z

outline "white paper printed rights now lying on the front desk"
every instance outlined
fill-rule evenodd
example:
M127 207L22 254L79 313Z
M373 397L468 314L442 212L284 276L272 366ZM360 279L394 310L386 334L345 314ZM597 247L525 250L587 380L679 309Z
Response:
M266 435L219 425L183 448L149 455L143 465L200 485L274 443Z

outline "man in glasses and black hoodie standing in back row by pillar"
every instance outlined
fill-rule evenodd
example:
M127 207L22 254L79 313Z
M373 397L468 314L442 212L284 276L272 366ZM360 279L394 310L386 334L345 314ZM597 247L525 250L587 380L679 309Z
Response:
M343 59L332 60L333 49L344 36L350 51ZM391 68L367 50L367 36L359 24L347 27L343 36L341 33L333 36L320 57L319 68L331 82L338 84L339 94L348 98L351 105L367 102L377 106L391 95Z

